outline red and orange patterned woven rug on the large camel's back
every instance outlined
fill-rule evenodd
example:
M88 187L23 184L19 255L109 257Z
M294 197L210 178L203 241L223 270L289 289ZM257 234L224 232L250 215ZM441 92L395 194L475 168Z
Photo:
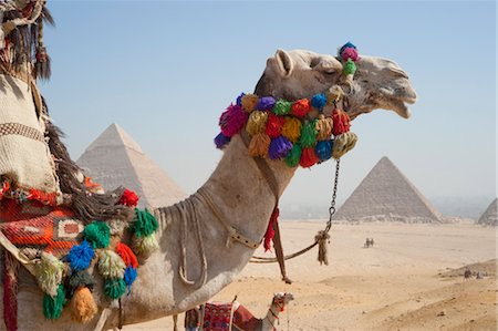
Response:
M60 258L79 244L83 228L69 208L0 200L0 230L20 249L40 249Z

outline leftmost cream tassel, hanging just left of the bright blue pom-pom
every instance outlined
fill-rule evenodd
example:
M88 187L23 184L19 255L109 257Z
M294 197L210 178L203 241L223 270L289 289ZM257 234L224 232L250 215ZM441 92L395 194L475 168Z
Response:
M63 262L51 254L42 252L40 262L35 265L37 280L42 291L50 297L56 297L63 271Z

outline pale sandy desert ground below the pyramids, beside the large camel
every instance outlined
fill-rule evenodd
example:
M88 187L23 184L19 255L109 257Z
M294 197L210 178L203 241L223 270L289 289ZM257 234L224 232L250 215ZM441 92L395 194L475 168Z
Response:
M322 227L282 223L284 250L308 245ZM366 237L375 247L363 248ZM262 318L273 292L290 291L295 300L278 330L497 330L496 260L489 261L496 244L495 228L474 225L335 225L329 266L312 250L288 262L294 283L286 286L277 266L250 263L214 299L238 294ZM485 262L474 267L487 270L485 279L452 271L476 262ZM124 330L173 330L173 323L164 318Z

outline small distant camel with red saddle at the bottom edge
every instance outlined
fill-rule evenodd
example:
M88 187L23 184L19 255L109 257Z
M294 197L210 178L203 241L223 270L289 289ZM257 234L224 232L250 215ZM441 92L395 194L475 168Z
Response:
M268 308L268 312L264 318L258 319L249 312L249 310L243 307L240 302L234 300L231 302L234 318L231 322L231 330L240 330L240 331L272 331L274 329L274 324L279 319L280 313L286 309L290 301L294 300L292 293L283 293L279 292L273 294L273 298L270 303L270 308ZM219 308L220 306L230 307L230 303L207 303L211 307ZM209 330L208 318L206 317L206 312L204 314L204 328Z

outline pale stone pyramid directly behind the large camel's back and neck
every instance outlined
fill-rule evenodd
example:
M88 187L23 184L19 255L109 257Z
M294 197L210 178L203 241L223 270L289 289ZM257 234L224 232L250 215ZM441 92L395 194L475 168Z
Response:
M105 190L120 186L134 190L141 198L139 208L169 206L186 197L117 124L90 144L76 164Z

